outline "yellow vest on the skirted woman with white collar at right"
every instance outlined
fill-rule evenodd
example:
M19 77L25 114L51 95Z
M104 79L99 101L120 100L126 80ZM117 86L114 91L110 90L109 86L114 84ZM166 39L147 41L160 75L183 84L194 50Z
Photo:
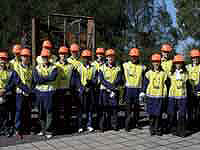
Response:
M187 73L181 73L181 79L176 79L176 73L169 75L171 86L169 89L169 97L183 98L187 96L186 81L188 80Z

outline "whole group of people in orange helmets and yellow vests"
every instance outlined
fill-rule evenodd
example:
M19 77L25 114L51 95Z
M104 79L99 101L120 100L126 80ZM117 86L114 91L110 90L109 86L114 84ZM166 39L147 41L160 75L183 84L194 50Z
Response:
M138 48L130 49L130 60L122 64L117 63L114 49L97 48L94 61L91 50L80 51L75 43L70 48L61 46L59 58L52 49L51 41L45 40L35 67L31 50L19 44L13 47L15 58L11 61L6 51L0 52L0 130L9 120L15 134L22 137L30 129L24 122L30 122L34 102L41 125L38 135L49 139L55 120L60 119L60 115L55 116L58 107L54 105L63 108L63 119L69 124L72 99L78 108L79 133L94 131L94 113L100 130L118 130L120 89L127 106L126 131L140 127L139 101L144 99L151 135L170 132L185 137L187 122L199 125L199 50L190 51L192 64L185 65L180 54L170 59L173 48L163 44L161 53L152 54L151 64L145 66L140 63Z

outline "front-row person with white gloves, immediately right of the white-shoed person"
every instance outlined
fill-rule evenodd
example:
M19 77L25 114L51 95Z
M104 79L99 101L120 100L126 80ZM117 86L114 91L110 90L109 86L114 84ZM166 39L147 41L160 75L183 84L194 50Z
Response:
M99 72L101 84L99 103L102 106L99 127L104 131L111 124L112 129L118 130L118 87L122 81L122 72L120 66L116 64L116 52L114 49L106 50L105 56L107 64L102 65Z

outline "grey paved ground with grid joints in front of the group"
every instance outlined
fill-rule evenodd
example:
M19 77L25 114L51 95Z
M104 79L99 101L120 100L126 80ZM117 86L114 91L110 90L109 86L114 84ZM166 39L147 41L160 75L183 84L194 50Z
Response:
M27 136L22 141L16 141L16 145L0 147L0 150L200 150L200 132L186 138L172 135L159 137L150 136L148 127L134 129L129 133L124 130L107 131L30 141Z

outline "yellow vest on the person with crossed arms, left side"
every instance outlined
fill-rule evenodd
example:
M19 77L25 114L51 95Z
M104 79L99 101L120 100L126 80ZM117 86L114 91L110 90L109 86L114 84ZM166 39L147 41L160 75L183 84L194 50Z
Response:
M43 67L43 65L38 65L36 67L36 70L40 76L47 77L52 73L52 71L55 68L56 68L55 65L50 65L48 68ZM36 89L39 91L44 91L44 92L54 91L56 89L56 80L51 81L51 82L46 82L44 84L36 85Z

